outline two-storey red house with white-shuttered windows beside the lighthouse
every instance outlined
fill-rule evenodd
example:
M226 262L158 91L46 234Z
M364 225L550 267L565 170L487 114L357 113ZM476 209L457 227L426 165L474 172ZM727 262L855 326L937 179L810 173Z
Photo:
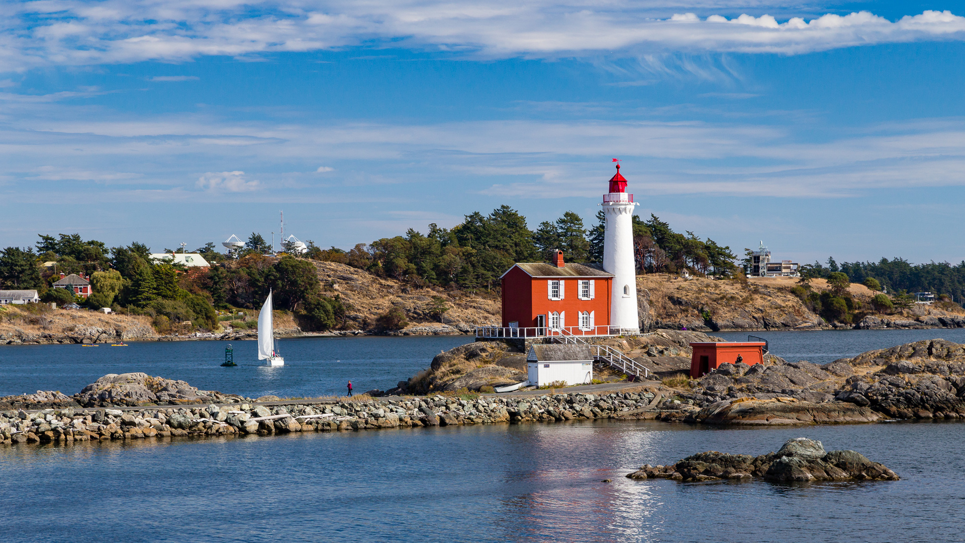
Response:
M613 274L596 264L516 263L503 276L506 336L610 333Z

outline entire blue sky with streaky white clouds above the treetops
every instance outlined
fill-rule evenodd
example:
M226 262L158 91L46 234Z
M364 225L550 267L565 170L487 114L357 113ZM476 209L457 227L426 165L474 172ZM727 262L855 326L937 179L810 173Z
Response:
M953 2L0 2L0 245L321 246L509 204L965 259Z

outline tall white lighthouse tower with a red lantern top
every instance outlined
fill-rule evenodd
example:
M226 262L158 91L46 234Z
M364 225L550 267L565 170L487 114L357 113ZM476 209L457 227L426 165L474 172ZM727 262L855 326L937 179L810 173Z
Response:
M617 175L610 179L610 191L603 195L601 205L606 216L603 270L614 274L610 327L620 332L639 332L637 272L633 262L633 209L639 204L633 202L633 194L626 193L619 162Z

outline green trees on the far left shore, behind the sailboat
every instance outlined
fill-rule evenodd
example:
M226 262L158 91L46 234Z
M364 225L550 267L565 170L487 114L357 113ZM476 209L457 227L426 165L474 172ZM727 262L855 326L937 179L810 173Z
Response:
M305 329L330 329L345 320L339 297L322 294L315 266L291 255L279 259L254 253L231 259L207 243L195 252L214 265L186 268L152 259L144 243L107 248L78 234L40 238L36 250L7 247L0 252L3 288L36 289L42 300L59 304L147 314L162 332L185 326L215 329L216 309L261 307L269 289L275 292L275 307L291 311ZM69 289L54 288L61 273L84 274L92 294L83 299Z

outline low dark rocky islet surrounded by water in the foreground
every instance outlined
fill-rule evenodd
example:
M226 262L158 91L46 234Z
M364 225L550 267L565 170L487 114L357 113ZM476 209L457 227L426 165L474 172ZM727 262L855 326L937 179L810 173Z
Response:
M826 452L821 442L807 438L788 440L777 452L757 457L708 450L688 456L676 464L647 464L626 476L638 480L663 478L685 482L754 477L778 482L898 480L895 472L882 464L871 462L858 452Z

